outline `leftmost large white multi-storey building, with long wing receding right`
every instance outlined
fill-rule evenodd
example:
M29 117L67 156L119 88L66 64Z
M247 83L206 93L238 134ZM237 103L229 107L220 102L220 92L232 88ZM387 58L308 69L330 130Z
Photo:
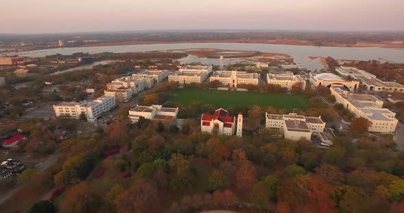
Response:
M115 96L101 96L90 102L62 102L53 105L56 117L79 119L84 113L88 122L97 122L104 113L114 109Z

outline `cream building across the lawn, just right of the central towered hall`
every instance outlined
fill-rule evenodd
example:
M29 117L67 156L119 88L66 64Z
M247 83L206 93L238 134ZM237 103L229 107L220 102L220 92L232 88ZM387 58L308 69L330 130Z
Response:
M266 83L270 85L279 85L289 90L296 83L301 83L301 89L306 88L306 81L300 75L294 75L293 72L275 72L266 74Z

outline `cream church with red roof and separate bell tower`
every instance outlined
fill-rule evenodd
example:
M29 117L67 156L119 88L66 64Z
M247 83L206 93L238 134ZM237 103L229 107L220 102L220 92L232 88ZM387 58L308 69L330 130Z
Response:
M233 135L237 129L237 136L242 137L242 114L238 117L229 116L224 109L217 109L213 115L202 114L201 132L209 134Z

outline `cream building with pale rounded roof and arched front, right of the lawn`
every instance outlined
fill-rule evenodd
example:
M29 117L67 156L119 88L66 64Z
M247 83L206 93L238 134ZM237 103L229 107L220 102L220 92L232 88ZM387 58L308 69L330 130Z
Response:
M342 87L349 89L350 91L356 91L356 89L359 87L359 81L345 81L340 76L332 73L310 73L310 82L315 87L318 85L322 85L323 87Z

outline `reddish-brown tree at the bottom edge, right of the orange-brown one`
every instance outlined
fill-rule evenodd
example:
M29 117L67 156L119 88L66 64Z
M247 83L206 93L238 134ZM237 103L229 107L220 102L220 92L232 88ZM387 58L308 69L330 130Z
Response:
M150 212L158 205L157 186L153 182L137 179L115 199L118 212Z

